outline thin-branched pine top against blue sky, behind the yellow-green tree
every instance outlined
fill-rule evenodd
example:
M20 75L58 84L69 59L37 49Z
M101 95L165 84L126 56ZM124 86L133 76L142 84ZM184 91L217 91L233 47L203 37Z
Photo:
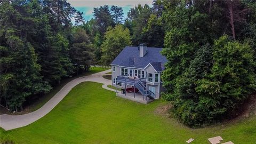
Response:
M114 19L116 25L121 24L123 22L124 13L122 7L117 7L115 5L111 6L111 15Z

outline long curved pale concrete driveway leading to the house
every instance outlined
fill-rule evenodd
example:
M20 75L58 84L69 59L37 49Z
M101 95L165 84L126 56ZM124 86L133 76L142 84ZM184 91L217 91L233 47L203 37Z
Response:
M103 83L103 89L115 92L114 89L110 89L109 87L107 87L107 85L111 85L111 81L102 77L102 75L110 71L111 69L74 79L73 81L63 86L62 89L52 97L52 99L50 99L44 104L43 107L39 108L36 111L24 115L0 115L0 127L7 131L29 125L37 121L39 118L42 118L43 116L48 114L55 106L57 106L58 103L68 94L69 91L71 91L73 87L82 82L91 81Z

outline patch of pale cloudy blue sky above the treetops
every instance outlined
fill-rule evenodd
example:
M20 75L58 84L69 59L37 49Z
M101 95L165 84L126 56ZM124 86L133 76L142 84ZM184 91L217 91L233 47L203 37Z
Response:
M127 12L139 3L141 5L152 5L153 0L67 0L76 10L83 12L84 19L90 20L93 18L93 7L100 7L103 5L116 5L123 8L124 18L127 17Z

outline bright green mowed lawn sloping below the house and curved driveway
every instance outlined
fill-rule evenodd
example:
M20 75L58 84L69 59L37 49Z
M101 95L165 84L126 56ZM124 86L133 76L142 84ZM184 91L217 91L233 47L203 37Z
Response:
M115 96L102 84L84 82L46 116L19 129L1 130L17 143L209 143L220 135L222 142L255 143L256 116L227 124L189 129L173 118L156 114L167 102L147 105Z

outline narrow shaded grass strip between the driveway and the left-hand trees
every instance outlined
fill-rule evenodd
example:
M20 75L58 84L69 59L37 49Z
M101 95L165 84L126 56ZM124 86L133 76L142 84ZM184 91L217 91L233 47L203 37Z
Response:
M26 113L30 113L31 111L35 111L39 108L41 108L47 101L49 101L57 92L60 91L60 89L66 85L68 82L72 81L73 79L77 78L77 77L82 77L82 76L87 76L87 75L91 75L94 73L99 73L100 71L104 71L104 70L108 70L109 68L103 68L103 67L91 67L91 69L89 71L86 71L85 73L78 75L78 76L73 76L70 78L63 78L60 82L59 85L53 87L53 89L39 97L39 98L35 98L34 100L30 100L31 102L28 103L28 106L25 107L25 109L19 113L10 113L9 111L6 111L4 108L1 108L1 114L9 114L9 115L21 115L21 114L26 114Z

